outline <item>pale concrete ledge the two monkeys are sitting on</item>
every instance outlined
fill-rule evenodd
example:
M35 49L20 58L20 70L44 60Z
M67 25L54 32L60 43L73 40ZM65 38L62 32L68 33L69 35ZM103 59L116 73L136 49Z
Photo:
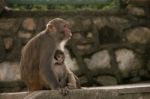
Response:
M72 90L67 96L58 91L42 90L27 96L27 92L1 93L0 99L150 99L150 84L93 87Z

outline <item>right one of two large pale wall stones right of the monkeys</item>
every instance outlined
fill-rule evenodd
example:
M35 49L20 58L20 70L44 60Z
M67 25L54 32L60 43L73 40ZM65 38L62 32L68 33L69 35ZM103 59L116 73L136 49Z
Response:
M142 63L140 58L129 49L119 49L115 52L119 70L124 77L134 73L136 75L140 70Z

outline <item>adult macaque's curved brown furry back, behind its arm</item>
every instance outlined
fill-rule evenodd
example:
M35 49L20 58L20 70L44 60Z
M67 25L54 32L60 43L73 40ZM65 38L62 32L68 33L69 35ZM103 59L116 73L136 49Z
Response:
M39 33L33 37L23 48L21 53L21 78L28 87L39 86L42 79L39 75L39 62L42 40L45 33Z

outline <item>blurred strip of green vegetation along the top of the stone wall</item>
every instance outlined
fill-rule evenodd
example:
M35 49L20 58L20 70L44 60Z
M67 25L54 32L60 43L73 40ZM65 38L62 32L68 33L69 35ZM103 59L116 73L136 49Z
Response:
M108 10L114 9L117 7L117 0L110 0L102 4L85 4L85 5L70 5L70 4L59 4L59 5L40 5L40 4L31 4L31 5L21 5L21 4L8 4L13 10L31 10L31 11L47 11L47 10L62 10L62 11L71 11L71 10Z

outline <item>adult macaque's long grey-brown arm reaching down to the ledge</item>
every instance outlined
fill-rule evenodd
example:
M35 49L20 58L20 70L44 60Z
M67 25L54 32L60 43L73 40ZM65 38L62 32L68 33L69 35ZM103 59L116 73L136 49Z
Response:
M43 39L40 50L40 76L51 89L59 89L60 85L54 75L52 69L52 61L54 57L55 44L50 39ZM50 44L51 43L51 44Z

